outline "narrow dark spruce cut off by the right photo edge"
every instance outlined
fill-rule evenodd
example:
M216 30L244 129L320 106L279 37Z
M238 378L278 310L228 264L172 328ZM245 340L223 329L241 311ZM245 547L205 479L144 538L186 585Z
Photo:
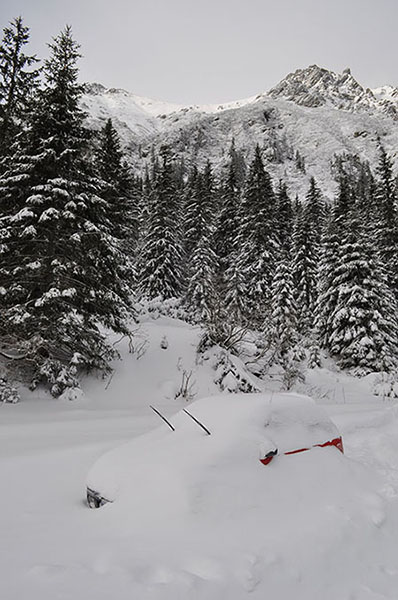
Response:
M375 226L381 263L385 266L388 284L398 298L398 214L392 172L392 160L380 146L374 193Z

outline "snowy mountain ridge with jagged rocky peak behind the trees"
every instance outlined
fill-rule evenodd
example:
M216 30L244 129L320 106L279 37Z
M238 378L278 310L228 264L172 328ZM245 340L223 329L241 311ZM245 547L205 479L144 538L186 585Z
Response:
M82 105L93 129L112 119L137 171L162 144L187 167L210 159L220 171L232 140L247 160L258 143L267 169L275 180L286 180L291 193L304 194L314 176L331 196L335 154L358 154L374 162L380 139L398 160L398 89L365 89L349 69L334 73L312 65L255 97L205 106L170 104L88 84ZM304 159L305 173L297 156Z

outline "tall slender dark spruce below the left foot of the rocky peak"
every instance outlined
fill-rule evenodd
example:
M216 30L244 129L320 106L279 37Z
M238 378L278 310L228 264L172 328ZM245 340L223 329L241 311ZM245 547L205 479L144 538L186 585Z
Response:
M259 326L269 308L269 293L278 252L275 196L259 146L250 165L242 197L238 236L238 254L233 269L240 272L244 286L242 316L247 325ZM233 284L233 278L230 279ZM234 296L230 289L228 296Z

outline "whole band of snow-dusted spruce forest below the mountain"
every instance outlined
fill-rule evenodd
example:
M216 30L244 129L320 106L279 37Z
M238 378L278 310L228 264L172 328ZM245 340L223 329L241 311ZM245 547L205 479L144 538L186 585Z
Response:
M66 27L39 66L22 19L0 47L0 344L8 366L54 395L108 369L108 328L134 303L177 298L202 347L256 331L288 368L320 348L361 372L396 364L398 229L390 158L337 157L330 206L271 181L262 151L189 170L168 148L140 177L111 123L84 125L79 45Z

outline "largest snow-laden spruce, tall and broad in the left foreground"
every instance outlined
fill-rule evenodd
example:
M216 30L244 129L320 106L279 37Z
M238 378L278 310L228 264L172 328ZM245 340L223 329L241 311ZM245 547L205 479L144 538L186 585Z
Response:
M99 325L128 333L129 290L111 207L87 167L79 46L70 27L49 46L44 88L0 181L11 207L0 255L0 337L33 380L58 395L76 384L79 366L108 368L115 352Z

